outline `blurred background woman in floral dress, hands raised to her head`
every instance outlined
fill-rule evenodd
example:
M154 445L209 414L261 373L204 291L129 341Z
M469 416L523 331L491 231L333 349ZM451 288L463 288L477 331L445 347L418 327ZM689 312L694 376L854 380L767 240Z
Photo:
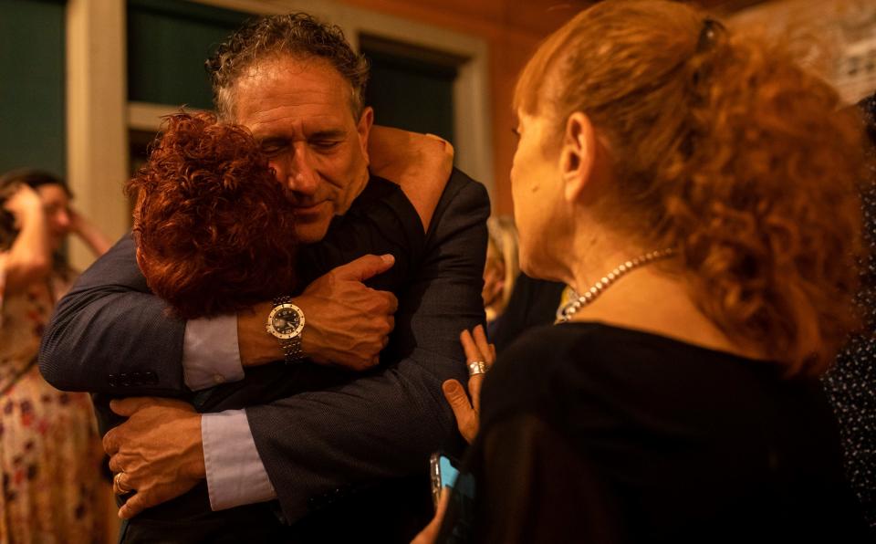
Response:
M73 274L57 250L69 233L109 244L69 206L67 185L36 171L0 178L0 541L102 541L109 486L89 396L59 392L36 353ZM54 254L54 257L53 257Z

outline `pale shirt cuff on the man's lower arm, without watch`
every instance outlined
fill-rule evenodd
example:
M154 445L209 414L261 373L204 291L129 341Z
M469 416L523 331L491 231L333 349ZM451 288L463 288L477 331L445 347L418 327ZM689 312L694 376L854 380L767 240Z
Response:
M243 410L204 413L201 440L214 511L276 498Z

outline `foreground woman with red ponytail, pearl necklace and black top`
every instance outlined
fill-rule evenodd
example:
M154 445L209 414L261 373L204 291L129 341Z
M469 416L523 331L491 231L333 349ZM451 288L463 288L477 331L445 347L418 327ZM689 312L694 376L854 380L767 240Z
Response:
M514 103L520 265L580 296L487 374L474 498L439 541L868 541L815 379L857 324L840 106L680 3L607 0L547 38Z

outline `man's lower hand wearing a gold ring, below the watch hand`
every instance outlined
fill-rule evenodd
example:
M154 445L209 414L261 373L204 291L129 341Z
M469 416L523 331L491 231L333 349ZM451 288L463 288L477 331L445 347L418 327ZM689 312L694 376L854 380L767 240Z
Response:
M135 397L112 401L110 408L129 418L103 437L110 470L117 473L113 490L136 491L119 509L120 518L179 497L206 477L201 414L191 404Z

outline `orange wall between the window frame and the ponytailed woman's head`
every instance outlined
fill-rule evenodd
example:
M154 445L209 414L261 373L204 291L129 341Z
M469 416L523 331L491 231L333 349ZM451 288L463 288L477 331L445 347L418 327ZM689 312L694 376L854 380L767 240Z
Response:
M490 49L496 214L511 214L508 173L514 155L511 98L516 77L538 43L582 9L583 0L341 0L392 16L485 39Z

